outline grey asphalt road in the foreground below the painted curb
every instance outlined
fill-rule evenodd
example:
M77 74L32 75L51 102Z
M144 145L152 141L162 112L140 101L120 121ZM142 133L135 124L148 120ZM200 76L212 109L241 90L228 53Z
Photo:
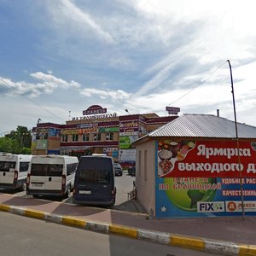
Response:
M125 236L74 229L61 224L0 212L0 253L5 256L207 256L217 255L171 247Z

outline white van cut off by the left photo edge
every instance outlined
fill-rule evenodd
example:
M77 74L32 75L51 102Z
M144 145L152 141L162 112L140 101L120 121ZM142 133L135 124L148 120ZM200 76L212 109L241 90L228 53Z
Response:
M28 166L32 160L31 154L0 154L0 188L26 188Z

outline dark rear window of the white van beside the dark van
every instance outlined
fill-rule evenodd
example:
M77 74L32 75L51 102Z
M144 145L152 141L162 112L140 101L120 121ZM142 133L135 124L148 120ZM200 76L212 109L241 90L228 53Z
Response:
M32 176L62 176L63 165L32 164Z

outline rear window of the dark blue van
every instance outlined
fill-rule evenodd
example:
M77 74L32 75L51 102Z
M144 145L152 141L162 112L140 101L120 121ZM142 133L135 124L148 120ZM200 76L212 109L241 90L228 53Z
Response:
M80 183L110 183L113 172L112 161L108 159L88 158L80 163L78 173ZM113 173L112 173L113 174Z

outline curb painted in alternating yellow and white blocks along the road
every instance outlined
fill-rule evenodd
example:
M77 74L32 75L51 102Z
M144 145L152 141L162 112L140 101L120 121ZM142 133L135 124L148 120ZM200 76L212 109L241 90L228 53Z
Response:
M24 207L13 207L0 204L0 211L10 212L29 218L43 219L56 224L65 224L84 230L91 230L105 234L115 234L127 236L135 239L153 241L176 247L184 247L207 253L218 253L234 256L253 256L256 255L256 246L236 244L233 242L217 241L199 237L181 236L171 233L158 232L153 230L143 230L131 228L125 225L107 224L86 220L84 218L74 218L67 215L56 215L49 212L32 210Z

